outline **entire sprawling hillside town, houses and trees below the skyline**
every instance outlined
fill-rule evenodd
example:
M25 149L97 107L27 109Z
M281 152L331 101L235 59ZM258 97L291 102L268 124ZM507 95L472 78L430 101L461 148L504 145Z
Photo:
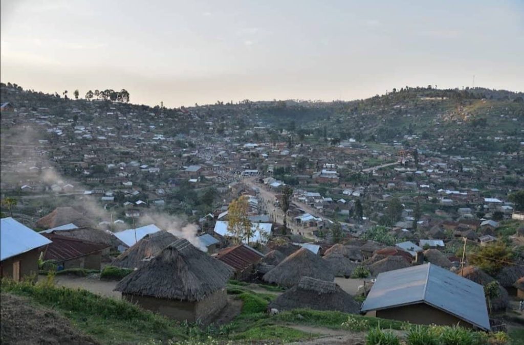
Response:
M522 327L521 93L180 108L68 95L1 85L2 319L4 291L47 286L223 340L253 340L244 318L303 340L313 311L348 335L374 319Z

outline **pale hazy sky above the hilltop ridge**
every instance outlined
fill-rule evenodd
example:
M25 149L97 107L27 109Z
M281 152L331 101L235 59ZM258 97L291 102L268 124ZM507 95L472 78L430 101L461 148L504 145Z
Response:
M524 0L1 3L1 80L38 91L331 101L473 75L524 91Z

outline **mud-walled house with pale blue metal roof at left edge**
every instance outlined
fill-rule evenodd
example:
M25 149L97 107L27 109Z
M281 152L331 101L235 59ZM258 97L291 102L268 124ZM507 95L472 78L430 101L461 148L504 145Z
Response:
M0 220L0 277L19 281L38 274L41 248L51 241L8 217Z

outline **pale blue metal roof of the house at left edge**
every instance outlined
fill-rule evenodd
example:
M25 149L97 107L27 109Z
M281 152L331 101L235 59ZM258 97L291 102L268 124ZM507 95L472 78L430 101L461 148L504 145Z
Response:
M0 220L0 261L49 243L50 240L11 217Z

